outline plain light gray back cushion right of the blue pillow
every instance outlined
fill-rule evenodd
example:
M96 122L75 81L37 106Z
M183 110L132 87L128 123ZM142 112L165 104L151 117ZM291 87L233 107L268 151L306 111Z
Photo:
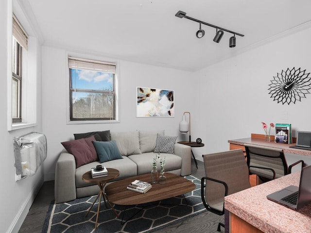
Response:
M110 139L117 142L122 156L141 154L139 149L138 131L110 132Z

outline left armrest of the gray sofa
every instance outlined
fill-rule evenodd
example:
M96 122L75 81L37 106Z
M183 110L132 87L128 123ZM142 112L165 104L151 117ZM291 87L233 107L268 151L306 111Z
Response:
M73 155L63 150L55 168L54 195L56 203L76 199L75 171L76 162Z

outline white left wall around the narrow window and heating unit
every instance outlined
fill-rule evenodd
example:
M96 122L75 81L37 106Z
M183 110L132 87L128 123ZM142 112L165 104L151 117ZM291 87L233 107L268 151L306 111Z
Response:
M30 133L33 131L41 131L41 92L40 92L40 75L37 79L37 97L39 99L37 103L37 110L39 114L37 115L37 126L14 130L8 132L7 129L7 75L8 72L12 72L11 63L8 62L8 38L11 41L11 24L8 23L8 18L10 23L12 22L12 1L5 0L0 3L0 148L1 148L1 192L0 192L0 229L1 232L16 233L19 230L28 210L35 199L36 192L43 182L43 167L41 166L37 173L33 177L26 178L24 180L15 181L15 169L14 169L14 148L13 148L13 138L16 136L23 135L25 133ZM33 36L33 34L31 34ZM37 59L38 67L40 64L40 54L41 48L37 47ZM40 74L40 68L38 68L37 73Z

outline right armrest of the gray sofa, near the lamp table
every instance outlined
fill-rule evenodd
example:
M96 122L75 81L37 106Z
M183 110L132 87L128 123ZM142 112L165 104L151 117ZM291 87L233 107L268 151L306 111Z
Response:
M191 147L175 143L174 154L181 157L181 176L191 175Z

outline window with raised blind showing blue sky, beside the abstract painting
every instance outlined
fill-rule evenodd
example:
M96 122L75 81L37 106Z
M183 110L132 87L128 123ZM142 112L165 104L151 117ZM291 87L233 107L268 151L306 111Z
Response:
M70 121L116 119L116 64L69 57Z

